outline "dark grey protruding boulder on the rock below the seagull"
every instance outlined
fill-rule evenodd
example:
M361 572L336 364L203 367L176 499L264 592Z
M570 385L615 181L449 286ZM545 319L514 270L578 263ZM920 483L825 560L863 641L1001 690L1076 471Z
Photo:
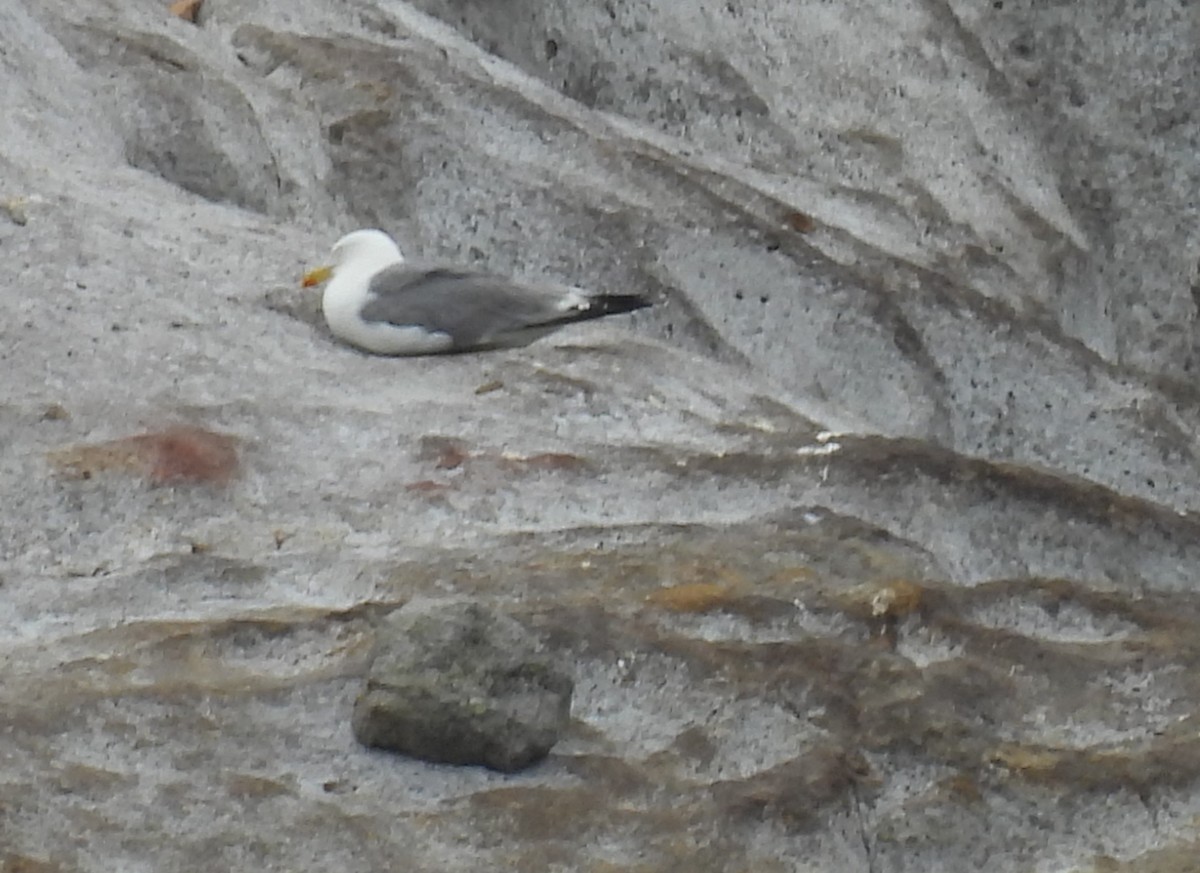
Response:
M571 686L512 619L478 603L408 603L379 630L354 736L421 760L512 772L558 742Z

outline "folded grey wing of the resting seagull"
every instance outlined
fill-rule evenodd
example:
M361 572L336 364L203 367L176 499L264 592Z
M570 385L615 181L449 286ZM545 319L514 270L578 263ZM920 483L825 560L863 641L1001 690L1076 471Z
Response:
M569 320L562 294L448 269L397 264L371 278L367 321L448 333L456 348L503 342L506 335Z

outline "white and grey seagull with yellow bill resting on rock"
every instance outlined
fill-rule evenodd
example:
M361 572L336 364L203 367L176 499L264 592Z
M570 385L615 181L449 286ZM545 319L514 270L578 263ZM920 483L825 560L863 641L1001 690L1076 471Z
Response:
M382 230L355 230L340 239L330 265L306 273L304 285L325 281L322 309L334 336L377 355L524 345L572 321L650 306L640 294L588 294L406 264Z

